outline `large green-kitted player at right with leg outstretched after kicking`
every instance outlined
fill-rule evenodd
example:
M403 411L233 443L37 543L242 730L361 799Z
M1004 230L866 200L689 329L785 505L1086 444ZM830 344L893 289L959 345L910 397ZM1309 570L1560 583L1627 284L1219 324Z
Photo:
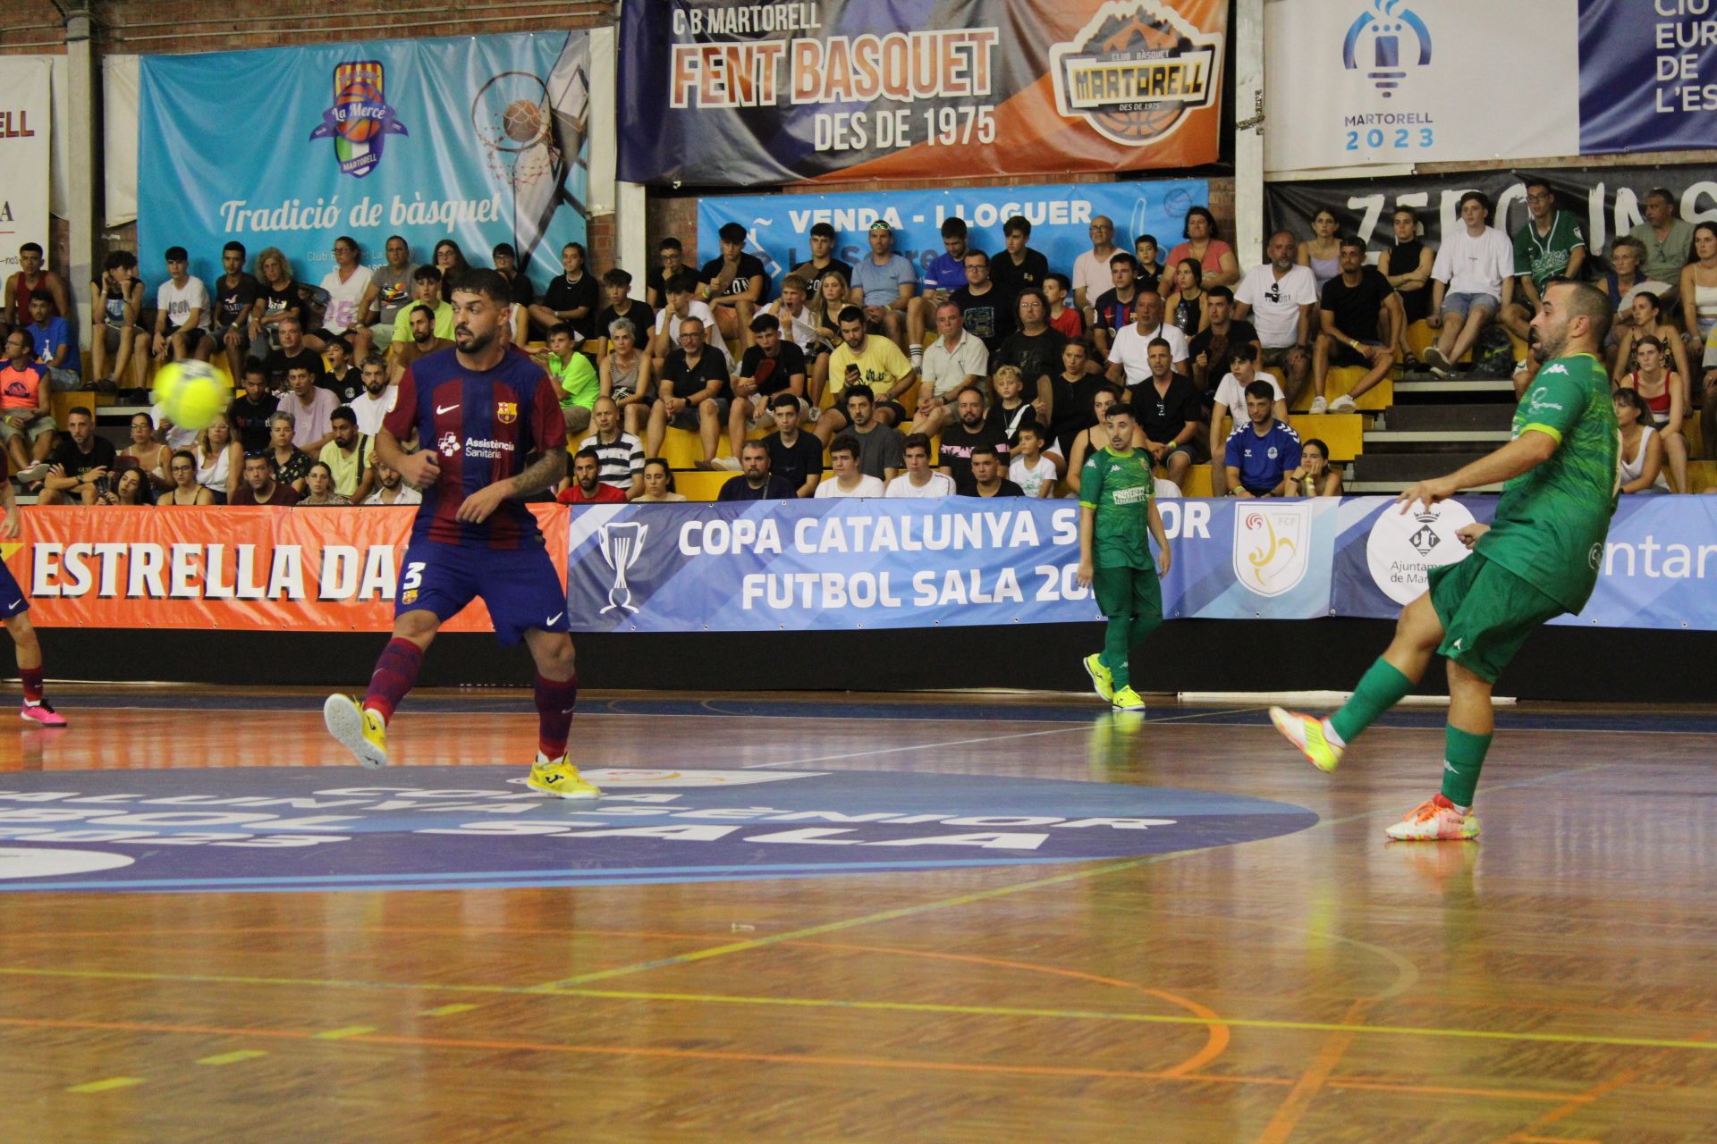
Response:
M1545 286L1532 319L1544 365L1514 410L1513 439L1398 497L1405 513L1506 480L1494 523L1461 528L1471 556L1430 569L1429 592L1401 611L1394 641L1339 712L1320 720L1271 708L1277 731L1319 770L1334 770L1355 736L1413 689L1430 653L1447 657L1442 791L1389 827L1391 839L1478 837L1471 806L1496 727L1490 688L1526 636L1583 609L1597 585L1619 487L1616 410L1597 357L1611 317L1609 298L1593 286L1561 280Z

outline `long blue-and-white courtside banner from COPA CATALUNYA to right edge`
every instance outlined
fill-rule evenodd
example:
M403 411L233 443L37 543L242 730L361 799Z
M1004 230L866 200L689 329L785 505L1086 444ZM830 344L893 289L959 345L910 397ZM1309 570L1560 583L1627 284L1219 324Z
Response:
M1391 497L1159 501L1169 619L1392 617L1496 497L1403 513ZM575 631L853 631L1097 623L1078 585L1078 504L750 501L573 509ZM1717 631L1717 501L1624 497L1597 592L1605 628Z

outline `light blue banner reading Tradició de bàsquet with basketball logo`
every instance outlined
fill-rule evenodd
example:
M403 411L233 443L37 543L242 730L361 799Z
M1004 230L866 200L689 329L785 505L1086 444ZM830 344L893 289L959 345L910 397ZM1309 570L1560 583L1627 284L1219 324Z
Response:
M541 288L585 235L582 31L151 55L139 99L144 278L184 245L213 283L237 240L316 285L338 235L379 264L398 233L414 262L452 238L486 266L508 242Z

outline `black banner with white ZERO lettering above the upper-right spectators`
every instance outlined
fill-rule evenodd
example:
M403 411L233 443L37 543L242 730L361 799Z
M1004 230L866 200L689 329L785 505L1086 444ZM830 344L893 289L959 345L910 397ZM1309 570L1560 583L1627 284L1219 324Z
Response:
M1593 254L1609 254L1617 235L1626 235L1645 220L1641 201L1653 187L1667 189L1678 202L1679 218L1696 223L1717 220L1717 166L1595 166L1590 170L1501 168L1458 175L1405 175L1389 178L1329 178L1312 182L1276 182L1265 187L1265 208L1272 230L1312 233L1312 218L1334 211L1344 235L1358 235L1374 250L1394 244L1389 216L1398 206L1418 211L1425 238L1441 242L1459 226L1459 199L1468 190L1482 190L1497 206L1490 225L1509 235L1526 225L1525 178L1544 178L1556 192L1556 206L1571 211L1587 235ZM1247 259L1243 257L1245 264Z

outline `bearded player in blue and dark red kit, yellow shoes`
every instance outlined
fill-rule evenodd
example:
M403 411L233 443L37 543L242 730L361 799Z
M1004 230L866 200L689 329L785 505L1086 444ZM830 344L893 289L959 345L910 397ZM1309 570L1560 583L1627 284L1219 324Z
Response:
M520 497L560 484L567 422L548 374L508 348L501 333L512 288L494 271L467 271L453 286L453 348L414 362L376 434L376 458L422 489L393 599L393 638L362 701L331 695L328 732L357 762L388 762L388 720L417 681L441 624L482 597L501 643L524 640L536 660L537 756L527 784L558 798L599 791L567 762L579 698L567 593L536 518ZM422 449L400 441L417 429ZM529 465L527 455L537 455Z

